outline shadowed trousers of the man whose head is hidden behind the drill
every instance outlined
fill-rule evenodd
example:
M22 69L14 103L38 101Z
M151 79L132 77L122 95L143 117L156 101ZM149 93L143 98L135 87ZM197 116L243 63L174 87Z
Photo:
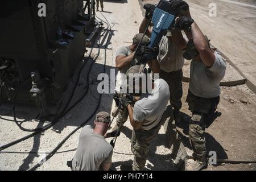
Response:
M161 70L160 78L165 80L169 85L170 89L170 102L174 110L180 110L182 107L181 97L183 95L182 90L182 69L179 69L175 72L164 72Z

